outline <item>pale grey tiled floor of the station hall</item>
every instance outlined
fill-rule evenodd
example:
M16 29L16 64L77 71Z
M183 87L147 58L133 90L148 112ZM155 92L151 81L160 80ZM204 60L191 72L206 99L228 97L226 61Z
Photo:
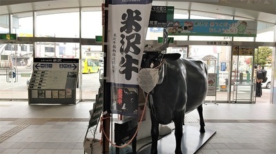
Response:
M92 102L75 105L0 102L0 153L83 153L90 109ZM197 111L186 117L198 119ZM206 128L217 133L197 154L276 153L275 104L207 104L204 118ZM199 125L193 120L186 124ZM139 140L137 149L148 142L149 138Z

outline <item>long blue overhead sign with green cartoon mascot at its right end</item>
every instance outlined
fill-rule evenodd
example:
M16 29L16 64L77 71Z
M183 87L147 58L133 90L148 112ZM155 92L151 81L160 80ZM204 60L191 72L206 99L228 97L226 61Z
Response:
M257 21L175 19L169 35L257 36Z

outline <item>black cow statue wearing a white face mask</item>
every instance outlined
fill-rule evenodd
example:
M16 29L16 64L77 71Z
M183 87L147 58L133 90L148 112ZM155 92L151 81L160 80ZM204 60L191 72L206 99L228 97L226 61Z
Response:
M199 131L205 133L202 104L208 88L207 67L200 60L180 56L145 50L142 58L139 85L141 82L143 90L144 86L151 85L151 88L146 88L146 93L150 94L148 107L152 122L150 154L157 154L159 124L172 121L175 123L175 153L181 154L184 116L194 109L199 112ZM142 83L141 80L148 80L150 76L155 77Z

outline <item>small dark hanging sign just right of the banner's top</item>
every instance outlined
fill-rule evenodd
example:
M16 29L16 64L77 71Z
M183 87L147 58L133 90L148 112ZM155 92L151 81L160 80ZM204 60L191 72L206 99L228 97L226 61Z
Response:
M152 5L150 12L149 28L172 28L174 6Z

